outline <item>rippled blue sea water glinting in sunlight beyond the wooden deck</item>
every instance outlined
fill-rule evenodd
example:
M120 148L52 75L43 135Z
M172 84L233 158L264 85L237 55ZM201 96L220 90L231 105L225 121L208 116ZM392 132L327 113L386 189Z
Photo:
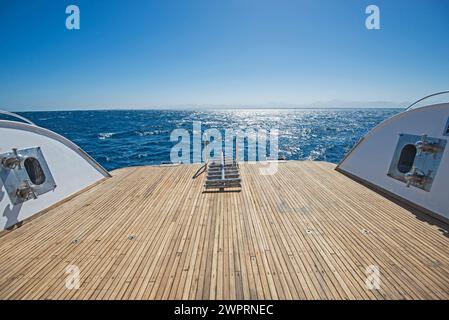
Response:
M401 109L98 110L22 112L37 125L72 140L106 169L170 161L170 133L194 121L202 129L279 130L287 160L337 163L370 129Z

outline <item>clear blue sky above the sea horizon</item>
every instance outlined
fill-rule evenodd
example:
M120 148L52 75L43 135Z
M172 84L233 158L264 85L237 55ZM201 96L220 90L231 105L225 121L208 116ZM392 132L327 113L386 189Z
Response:
M448 36L445 0L0 0L0 108L410 101L449 88Z

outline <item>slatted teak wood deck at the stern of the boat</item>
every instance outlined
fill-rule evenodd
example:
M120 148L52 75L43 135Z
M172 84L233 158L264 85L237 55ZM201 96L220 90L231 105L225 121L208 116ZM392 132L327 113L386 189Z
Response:
M261 166L241 164L241 191L224 193L203 192L200 165L114 171L1 235L0 298L449 298L444 225L329 163Z

